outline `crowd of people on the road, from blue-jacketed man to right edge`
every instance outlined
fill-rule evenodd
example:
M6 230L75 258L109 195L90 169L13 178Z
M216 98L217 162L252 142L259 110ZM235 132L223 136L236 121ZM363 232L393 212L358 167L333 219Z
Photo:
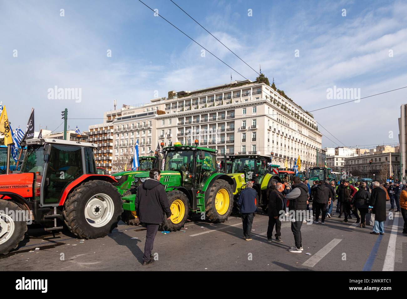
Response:
M250 231L252 229L253 217L257 212L256 202L258 194L252 188L253 182L247 183L247 188L239 196L238 206L241 207L243 219L243 234L245 240L252 240ZM390 201L391 212L401 212L404 219L403 234L407 234L407 186L399 183L379 183L372 182L368 185L366 182L340 181L338 185L335 181L320 180L313 181L310 186L308 179L300 180L294 177L291 184L288 181L279 183L271 180L270 187L267 189L266 196L269 200L267 215L269 216L267 228L267 240L273 242L273 231L275 230L275 239L282 242L281 221L287 209L290 212L291 231L294 235L295 247L289 249L290 252L301 253L302 236L301 226L308 222L304 218L306 213L315 217L313 223L325 224L326 218L332 218L334 202L336 204L336 213L342 223L348 223L349 219L356 218L356 222L361 228L366 227L366 219L369 218L373 229L370 234L383 235L384 222L387 218L386 201ZM310 208L312 202L312 209ZM396 210L394 210L396 206ZM243 209L242 209L243 207ZM299 213L300 212L300 213ZM248 216L249 215L249 216Z

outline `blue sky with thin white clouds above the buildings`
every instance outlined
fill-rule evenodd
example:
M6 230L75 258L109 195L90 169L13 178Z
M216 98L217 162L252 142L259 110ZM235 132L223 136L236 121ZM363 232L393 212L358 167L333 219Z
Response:
M132 1L0 0L0 101L13 129L87 131L103 112L168 91L194 90L258 74L169 0L143 0L227 65ZM298 105L312 111L407 86L406 1L174 0ZM62 11L61 11L62 10ZM346 11L345 11L346 10ZM74 88L58 99L50 90ZM79 96L79 94L77 94ZM398 142L407 88L313 112L323 147Z

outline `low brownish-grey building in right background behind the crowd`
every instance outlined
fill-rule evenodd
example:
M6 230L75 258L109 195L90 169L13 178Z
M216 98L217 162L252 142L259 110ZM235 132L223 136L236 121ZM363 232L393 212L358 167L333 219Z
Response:
M370 178L381 182L389 176L396 177L400 173L399 153L394 151L384 153L378 151L374 154L345 157L344 160L344 170L355 177Z

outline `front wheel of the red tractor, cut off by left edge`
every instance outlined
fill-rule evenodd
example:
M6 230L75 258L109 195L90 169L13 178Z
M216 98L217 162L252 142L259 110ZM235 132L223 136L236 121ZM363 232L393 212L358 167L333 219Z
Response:
M14 216L10 213L11 211ZM17 248L24 239L28 219L17 219L16 216L20 218L25 215L25 212L26 210L16 203L0 199L0 254L9 253L10 250Z

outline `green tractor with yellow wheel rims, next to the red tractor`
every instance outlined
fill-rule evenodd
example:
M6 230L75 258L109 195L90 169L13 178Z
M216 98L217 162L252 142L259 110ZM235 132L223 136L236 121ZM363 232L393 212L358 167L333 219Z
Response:
M216 150L197 146L197 140L195 144L184 146L176 142L163 148L160 182L167 192L172 213L169 220L164 219L163 230L181 229L189 214L200 214L201 219L219 223L226 221L232 212L234 177L217 171ZM134 178L135 194L122 197L122 220L128 224L136 220L134 201L149 172L138 173Z

